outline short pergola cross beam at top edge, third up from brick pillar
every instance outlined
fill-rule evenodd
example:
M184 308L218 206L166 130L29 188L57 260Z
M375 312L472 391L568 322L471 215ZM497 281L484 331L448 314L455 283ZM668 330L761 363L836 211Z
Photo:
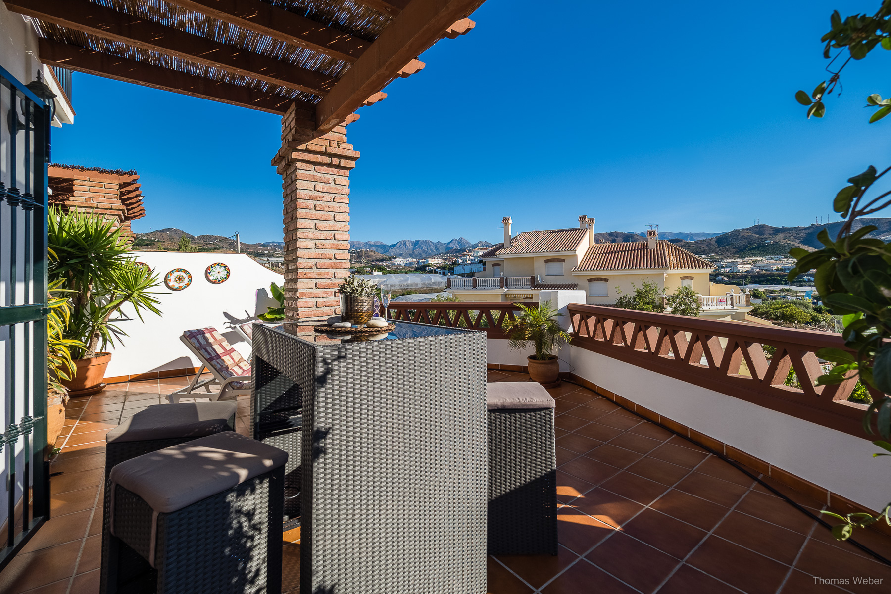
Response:
M331 58L353 62L371 42L336 28L277 8L260 0L166 0L186 10L272 37L288 44L306 47ZM394 0L395 1L395 0Z

